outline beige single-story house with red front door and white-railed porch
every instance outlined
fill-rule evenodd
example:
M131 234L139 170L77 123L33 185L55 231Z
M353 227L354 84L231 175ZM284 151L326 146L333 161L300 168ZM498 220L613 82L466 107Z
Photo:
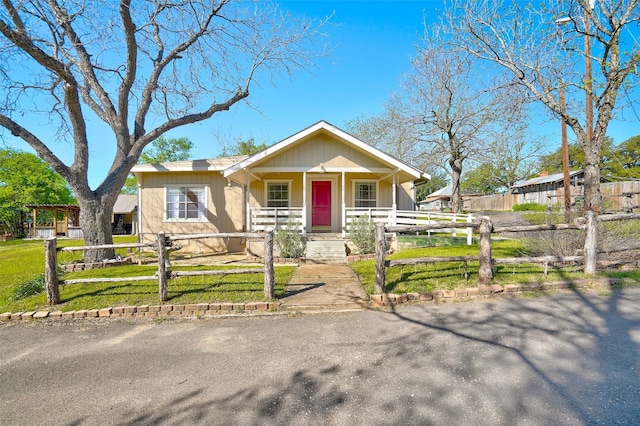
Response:
M312 236L348 238L354 218L415 217L414 185L430 176L320 121L252 156L137 165L143 241L168 234L264 231L293 220ZM206 240L197 251L240 251Z

